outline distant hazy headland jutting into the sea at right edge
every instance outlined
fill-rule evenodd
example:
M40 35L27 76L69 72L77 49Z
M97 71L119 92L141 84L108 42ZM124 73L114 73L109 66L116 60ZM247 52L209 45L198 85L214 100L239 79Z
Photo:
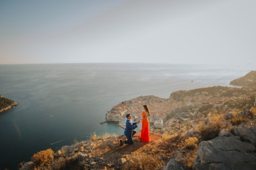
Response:
M250 71L241 78L230 81L230 85L250 86L256 85L256 71Z

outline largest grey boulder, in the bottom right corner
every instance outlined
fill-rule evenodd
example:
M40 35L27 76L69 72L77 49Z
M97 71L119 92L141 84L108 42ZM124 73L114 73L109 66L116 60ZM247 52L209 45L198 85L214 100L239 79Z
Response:
M198 145L193 169L256 169L255 146L238 139L219 136Z

